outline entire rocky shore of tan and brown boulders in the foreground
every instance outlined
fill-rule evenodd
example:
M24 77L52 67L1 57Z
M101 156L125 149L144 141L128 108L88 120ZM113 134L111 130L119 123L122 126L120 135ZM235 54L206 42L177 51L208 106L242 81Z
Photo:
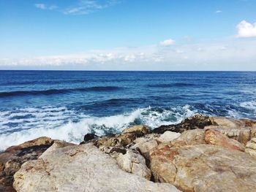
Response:
M0 191L256 191L256 121L195 115L80 145L40 137L0 154Z

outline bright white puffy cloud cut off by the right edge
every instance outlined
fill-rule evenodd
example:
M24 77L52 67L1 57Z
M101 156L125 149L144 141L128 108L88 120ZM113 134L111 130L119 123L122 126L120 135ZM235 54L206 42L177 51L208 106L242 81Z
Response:
M251 24L242 20L237 26L237 37L256 37L256 23Z

